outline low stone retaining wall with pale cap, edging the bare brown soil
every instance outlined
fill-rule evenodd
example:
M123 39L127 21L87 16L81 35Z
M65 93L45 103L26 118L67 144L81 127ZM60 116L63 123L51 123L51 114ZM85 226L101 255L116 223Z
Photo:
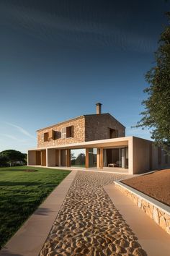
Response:
M115 187L135 202L150 218L153 219L164 231L170 234L170 207L139 192L132 187L115 182Z

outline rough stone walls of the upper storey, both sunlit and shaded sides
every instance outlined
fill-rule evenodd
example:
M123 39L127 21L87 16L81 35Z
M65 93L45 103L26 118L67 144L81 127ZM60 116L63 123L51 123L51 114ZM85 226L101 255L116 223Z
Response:
M73 127L71 137L62 138L62 129ZM110 114L91 114L79 116L51 127L37 131L37 148L86 142L91 140L109 139L109 129L117 131L116 137L125 137L125 127ZM44 134L53 133L52 137L44 140Z

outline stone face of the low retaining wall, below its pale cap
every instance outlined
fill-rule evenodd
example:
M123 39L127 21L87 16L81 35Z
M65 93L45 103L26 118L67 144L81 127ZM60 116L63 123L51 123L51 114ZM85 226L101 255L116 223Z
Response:
M153 221L155 221L159 226L161 226L164 231L170 234L170 213L146 200L144 197L136 195L134 192L131 192L125 187L120 186L120 184L117 184L117 182L115 182L115 187L117 187L117 189L119 189L123 194L133 200L135 205L138 205L138 207L143 210L150 218L152 218Z

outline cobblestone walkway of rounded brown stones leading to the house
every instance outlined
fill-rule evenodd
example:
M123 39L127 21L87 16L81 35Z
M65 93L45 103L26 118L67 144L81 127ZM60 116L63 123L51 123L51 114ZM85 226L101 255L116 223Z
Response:
M103 186L125 175L79 171L40 256L138 255L146 252Z

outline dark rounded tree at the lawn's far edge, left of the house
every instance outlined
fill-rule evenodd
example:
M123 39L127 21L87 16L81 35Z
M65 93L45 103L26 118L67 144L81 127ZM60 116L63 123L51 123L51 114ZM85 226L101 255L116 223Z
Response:
M25 157L27 154L21 153L17 150L4 150L0 153L1 157L6 157L10 163L10 166L14 166L16 162L26 163Z

